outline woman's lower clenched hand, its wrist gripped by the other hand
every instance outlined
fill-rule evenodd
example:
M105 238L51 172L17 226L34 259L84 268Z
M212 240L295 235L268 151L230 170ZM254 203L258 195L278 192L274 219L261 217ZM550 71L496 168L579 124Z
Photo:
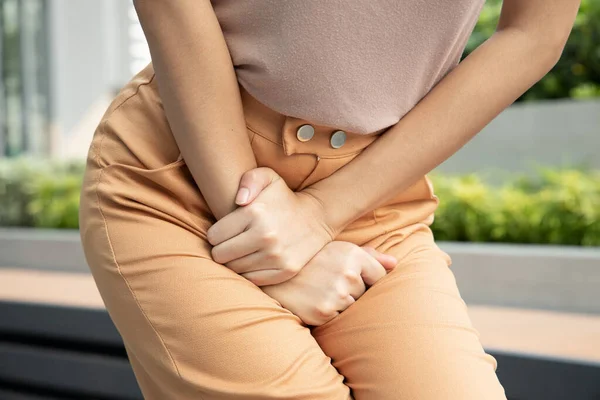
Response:
M394 257L372 248L333 241L292 279L262 290L305 324L319 326L348 308L396 264Z

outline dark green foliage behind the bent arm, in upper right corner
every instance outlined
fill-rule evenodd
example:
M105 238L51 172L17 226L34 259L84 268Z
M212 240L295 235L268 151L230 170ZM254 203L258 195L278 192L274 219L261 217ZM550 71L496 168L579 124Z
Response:
M487 0L469 38L464 56L492 36L501 0ZM562 57L540 82L518 101L600 96L600 0L582 0Z

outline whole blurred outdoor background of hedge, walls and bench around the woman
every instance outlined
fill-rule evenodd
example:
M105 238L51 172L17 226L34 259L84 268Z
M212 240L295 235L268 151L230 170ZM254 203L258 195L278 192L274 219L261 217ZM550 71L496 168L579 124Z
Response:
M0 0L0 400L141 398L77 213L95 127L149 61L129 0ZM599 152L600 0L583 0L555 68L431 174L511 400L600 399Z

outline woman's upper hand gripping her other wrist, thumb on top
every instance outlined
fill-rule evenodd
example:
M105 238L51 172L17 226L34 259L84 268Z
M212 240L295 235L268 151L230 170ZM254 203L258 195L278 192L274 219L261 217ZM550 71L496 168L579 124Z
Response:
M241 207L210 227L208 241L215 262L257 286L293 278L333 240L319 201L290 190L270 168L244 174L236 203Z

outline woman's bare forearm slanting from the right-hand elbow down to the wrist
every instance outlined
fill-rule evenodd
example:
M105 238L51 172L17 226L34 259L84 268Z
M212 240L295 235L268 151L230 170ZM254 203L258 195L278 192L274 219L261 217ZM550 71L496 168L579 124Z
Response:
M339 232L393 199L541 79L562 45L536 37L516 27L500 29L361 155L308 187L327 225Z

